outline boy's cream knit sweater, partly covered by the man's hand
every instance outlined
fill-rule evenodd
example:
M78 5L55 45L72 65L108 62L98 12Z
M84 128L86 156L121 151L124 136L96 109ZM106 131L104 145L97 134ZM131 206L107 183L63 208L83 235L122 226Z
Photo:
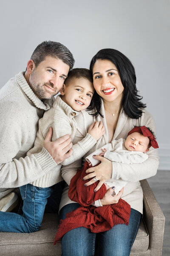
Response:
M57 96L52 108L46 111L44 116L39 120L34 148L28 151L27 155L31 156L31 154L41 152L44 139L50 127L53 128L52 140L57 140L63 135L69 134L73 141L76 131L79 129L75 120L75 117L78 115L79 112L74 111L70 106L63 102L60 95ZM83 124L84 122L81 123L80 127L82 127ZM56 164L56 166L54 166L48 173L31 184L38 187L49 187L63 180L60 172L61 166L71 164L80 159L95 144L96 140L90 134L85 134L85 137L83 137L81 141L72 146L73 154L71 157L65 159L58 165Z

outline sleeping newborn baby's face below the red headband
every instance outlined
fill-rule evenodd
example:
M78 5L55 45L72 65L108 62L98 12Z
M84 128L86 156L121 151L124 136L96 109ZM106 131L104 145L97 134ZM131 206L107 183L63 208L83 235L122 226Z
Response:
M125 140L125 148L129 151L139 151L146 153L149 149L150 140L139 132L133 132Z

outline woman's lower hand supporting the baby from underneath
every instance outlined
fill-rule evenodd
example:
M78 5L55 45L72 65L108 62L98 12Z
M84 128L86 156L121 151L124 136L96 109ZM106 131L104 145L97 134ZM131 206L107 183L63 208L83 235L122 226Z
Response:
M104 197L100 199L100 202L102 205L109 205L109 204L117 204L119 202L119 199L123 195L123 190L122 188L117 195L112 195L113 189L110 188L106 191Z

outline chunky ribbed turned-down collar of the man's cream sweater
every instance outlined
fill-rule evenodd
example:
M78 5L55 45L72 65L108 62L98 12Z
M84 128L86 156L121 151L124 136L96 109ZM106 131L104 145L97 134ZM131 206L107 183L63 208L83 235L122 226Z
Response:
M48 110L53 102L53 99L45 99L42 102L33 92L31 87L28 85L25 77L24 72L20 72L15 76L15 82L20 86L21 90L26 94L26 96L34 103L37 108Z

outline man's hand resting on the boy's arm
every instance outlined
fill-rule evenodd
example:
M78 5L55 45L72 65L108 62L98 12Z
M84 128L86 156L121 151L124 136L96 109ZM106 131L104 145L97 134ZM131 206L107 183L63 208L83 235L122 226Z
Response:
M71 138L68 134L62 136L58 140L51 141L53 129L50 127L48 134L44 140L44 148L51 154L54 161L59 164L66 158L71 157L73 151L71 149Z

